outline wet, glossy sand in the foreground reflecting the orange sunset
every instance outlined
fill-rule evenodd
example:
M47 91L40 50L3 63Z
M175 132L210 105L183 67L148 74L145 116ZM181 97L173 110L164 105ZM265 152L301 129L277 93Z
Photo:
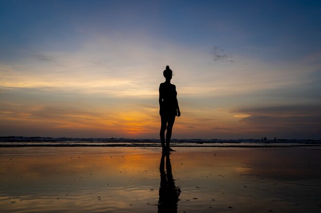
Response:
M319 212L321 150L0 148L1 212Z

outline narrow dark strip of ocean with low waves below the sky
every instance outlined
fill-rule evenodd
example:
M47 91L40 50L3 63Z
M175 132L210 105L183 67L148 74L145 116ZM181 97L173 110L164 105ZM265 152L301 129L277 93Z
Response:
M172 139L172 147L321 147L321 140ZM159 139L0 137L0 147L160 147Z

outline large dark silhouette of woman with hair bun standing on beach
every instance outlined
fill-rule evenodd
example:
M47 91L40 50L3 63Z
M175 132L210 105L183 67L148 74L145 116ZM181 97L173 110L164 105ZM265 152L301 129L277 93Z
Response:
M172 137L172 129L175 121L175 116L180 116L180 111L177 101L176 86L171 84L173 72L166 66L163 72L165 82L159 85L159 114L160 122L160 142L162 143L163 152L174 151L169 147ZM166 146L165 146L165 130L166 132Z

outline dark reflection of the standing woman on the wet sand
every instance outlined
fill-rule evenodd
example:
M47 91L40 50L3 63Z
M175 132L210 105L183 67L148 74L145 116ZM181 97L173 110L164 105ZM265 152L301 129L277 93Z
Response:
M166 172L165 172L165 156L166 156ZM163 152L160 158L159 165L160 172L160 187L158 200L158 213L177 212L178 196L180 195L180 188L175 186L171 161L169 153Z

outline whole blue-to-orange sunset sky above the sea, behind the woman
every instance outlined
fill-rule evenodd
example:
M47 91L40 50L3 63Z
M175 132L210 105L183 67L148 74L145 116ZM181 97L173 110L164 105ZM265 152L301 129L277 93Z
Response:
M320 1L1 1L0 136L321 139Z

